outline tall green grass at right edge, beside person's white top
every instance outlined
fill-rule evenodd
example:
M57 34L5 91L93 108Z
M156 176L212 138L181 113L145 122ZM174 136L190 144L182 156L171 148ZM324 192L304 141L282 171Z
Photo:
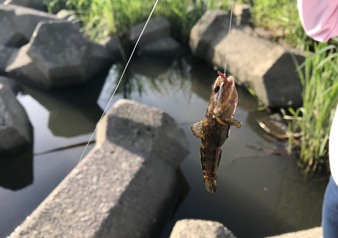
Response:
M307 47L306 60L298 65L303 85L303 107L289 121L289 148L298 144L300 163L306 171L315 171L319 164L328 159L328 139L332 120L338 103L338 53L336 45L314 44L315 53ZM302 70L303 71L302 71ZM301 131L295 139L294 133Z

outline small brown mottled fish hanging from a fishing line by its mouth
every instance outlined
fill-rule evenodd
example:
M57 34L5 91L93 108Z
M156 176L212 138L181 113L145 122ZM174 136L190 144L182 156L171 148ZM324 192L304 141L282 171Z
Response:
M230 126L240 128L242 123L233 116L238 94L233 76L228 78L218 71L211 88L211 96L205 118L191 126L192 134L201 138L200 157L205 188L212 194L217 186L217 168L221 160L222 145L229 137Z

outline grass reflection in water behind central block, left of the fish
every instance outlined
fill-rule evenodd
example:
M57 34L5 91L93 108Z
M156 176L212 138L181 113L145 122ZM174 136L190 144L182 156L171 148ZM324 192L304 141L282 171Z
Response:
M152 67L154 65L156 67ZM105 83L110 85L106 87L106 93L113 94L123 70L122 64L112 66ZM125 99L131 99L133 93L138 93L142 98L142 94L150 89L155 95L174 95L190 85L190 70L191 66L183 58L159 60L138 57L125 71L116 94L122 95Z

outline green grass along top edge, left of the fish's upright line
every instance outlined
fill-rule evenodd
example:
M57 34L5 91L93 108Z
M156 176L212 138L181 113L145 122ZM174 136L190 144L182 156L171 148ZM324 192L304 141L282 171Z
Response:
M99 40L113 35L116 30L125 35L131 26L145 21L155 0L44 0L49 12L60 9L74 10L84 23L84 33L90 39ZM116 11L117 25L114 24L112 2ZM191 27L207 9L226 8L226 0L160 0L153 13L165 16L174 37L188 41Z

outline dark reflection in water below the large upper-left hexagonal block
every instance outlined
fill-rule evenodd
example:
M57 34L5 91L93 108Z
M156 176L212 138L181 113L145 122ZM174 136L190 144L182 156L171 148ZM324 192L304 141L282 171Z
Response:
M96 100L104 78L102 75L82 86L53 91L23 85L23 92L49 111L48 127L55 136L74 137L92 132L102 115Z

